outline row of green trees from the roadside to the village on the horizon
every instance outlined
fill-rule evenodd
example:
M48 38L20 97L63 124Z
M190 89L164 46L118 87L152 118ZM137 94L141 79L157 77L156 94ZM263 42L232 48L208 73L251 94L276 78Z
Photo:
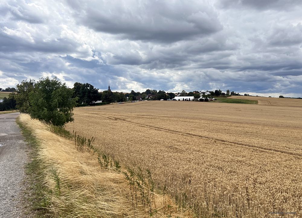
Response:
M142 99L152 96L153 100L167 100L175 97L173 92L157 91L155 89L146 89L142 93L133 90L130 93L98 92L98 89L89 83L74 83L73 88L68 88L66 83L49 77L41 78L38 81L23 80L16 88L8 87L1 89L1 91L12 93L0 102L0 111L18 109L21 113L29 114L33 119L43 120L55 126L64 126L66 123L73 121L73 108L82 104L95 104L100 100L109 103L131 101L136 100L137 96ZM187 93L185 90L181 94L182 96L194 95L194 97L200 97L199 94ZM213 92L213 95L222 94L224 93L220 89Z

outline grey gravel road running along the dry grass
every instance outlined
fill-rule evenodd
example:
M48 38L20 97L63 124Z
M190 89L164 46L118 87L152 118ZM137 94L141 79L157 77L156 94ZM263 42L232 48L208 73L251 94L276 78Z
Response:
M24 201L28 187L25 164L30 148L15 120L19 113L0 114L0 217L32 217Z

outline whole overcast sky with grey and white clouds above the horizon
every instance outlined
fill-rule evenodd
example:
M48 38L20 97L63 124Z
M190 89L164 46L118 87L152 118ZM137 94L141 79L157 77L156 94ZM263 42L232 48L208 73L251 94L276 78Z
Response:
M301 0L0 0L0 87L56 76L302 97L301 11Z

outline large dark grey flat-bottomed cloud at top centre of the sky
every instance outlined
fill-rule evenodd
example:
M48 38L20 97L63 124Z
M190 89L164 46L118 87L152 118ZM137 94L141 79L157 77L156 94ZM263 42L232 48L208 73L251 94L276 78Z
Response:
M75 18L90 28L120 38L175 42L222 29L217 14L200 1L69 1ZM82 5L83 7L79 7Z

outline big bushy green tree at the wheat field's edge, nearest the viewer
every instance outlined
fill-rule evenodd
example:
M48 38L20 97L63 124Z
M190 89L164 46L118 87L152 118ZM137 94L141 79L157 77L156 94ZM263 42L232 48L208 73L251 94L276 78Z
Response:
M56 78L41 78L29 93L31 118L43 120L55 126L64 126L73 121L73 107L77 98L72 98L73 90Z

